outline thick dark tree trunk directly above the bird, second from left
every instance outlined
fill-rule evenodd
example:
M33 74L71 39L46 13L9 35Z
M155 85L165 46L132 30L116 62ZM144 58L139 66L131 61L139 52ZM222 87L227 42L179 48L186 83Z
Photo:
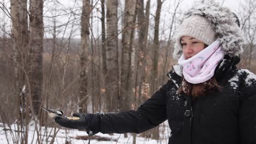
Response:
M43 85L43 0L30 0L30 88L34 114L38 115Z

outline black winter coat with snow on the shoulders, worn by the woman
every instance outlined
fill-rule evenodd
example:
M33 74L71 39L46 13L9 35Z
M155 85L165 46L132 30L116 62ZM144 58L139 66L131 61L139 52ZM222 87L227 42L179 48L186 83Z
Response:
M87 130L101 133L142 133L168 119L171 144L256 143L256 81L237 69L237 58L225 57L215 77L222 91L197 100L177 94L182 77L172 70L170 80L137 111L88 114Z

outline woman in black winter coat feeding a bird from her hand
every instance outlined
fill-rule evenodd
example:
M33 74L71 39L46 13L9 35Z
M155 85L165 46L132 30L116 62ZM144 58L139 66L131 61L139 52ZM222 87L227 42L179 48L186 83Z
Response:
M137 111L74 113L62 127L101 133L142 133L168 119L169 143L256 143L256 81L237 69L242 34L237 17L211 1L184 13L170 80Z

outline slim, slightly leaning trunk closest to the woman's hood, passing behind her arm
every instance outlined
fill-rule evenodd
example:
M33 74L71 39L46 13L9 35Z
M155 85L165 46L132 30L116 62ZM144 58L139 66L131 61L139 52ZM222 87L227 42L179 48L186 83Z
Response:
M161 13L161 0L158 0L158 7L155 14L155 32L154 32L154 52L153 52L153 70L151 76L150 95L152 95L158 88L158 58L159 58L159 21ZM153 129L153 139L159 140L159 127Z

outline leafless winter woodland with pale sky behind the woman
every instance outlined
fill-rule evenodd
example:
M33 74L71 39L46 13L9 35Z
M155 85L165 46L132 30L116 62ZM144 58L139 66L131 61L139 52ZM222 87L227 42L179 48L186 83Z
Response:
M173 35L182 5L182 0L1 0L0 123L9 130L15 123L13 139L28 143L32 121L34 135L53 143L59 127L42 106L67 116L136 110L176 64ZM238 67L255 73L256 1L239 5L233 11L245 52ZM42 134L42 125L53 130ZM158 140L159 133L157 127L140 136ZM42 137L35 141L42 143Z

